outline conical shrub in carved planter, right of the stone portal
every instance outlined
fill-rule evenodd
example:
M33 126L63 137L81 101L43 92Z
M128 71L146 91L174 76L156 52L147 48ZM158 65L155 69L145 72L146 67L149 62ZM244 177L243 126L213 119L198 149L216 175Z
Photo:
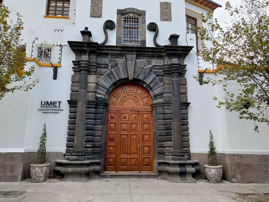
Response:
M211 130L209 131L209 137L208 164L205 164L204 167L208 181L218 183L221 182L222 165L219 165L217 162L217 151Z

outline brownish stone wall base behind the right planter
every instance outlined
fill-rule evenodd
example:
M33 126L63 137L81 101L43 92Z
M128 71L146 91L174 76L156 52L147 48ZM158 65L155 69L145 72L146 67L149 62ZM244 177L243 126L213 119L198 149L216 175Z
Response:
M200 161L198 176L206 179L204 164L207 153L192 153L192 159ZM269 155L263 154L218 154L223 166L222 179L232 183L269 183Z

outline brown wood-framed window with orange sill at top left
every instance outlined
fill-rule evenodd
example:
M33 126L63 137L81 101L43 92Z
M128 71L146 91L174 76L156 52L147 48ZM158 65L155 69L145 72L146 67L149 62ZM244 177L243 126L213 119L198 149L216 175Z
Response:
M70 0L48 0L47 15L69 16Z

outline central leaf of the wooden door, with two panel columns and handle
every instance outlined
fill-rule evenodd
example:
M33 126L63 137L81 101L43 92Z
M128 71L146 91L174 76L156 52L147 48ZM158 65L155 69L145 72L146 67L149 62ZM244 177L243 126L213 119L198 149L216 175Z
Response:
M118 172L139 172L139 111L119 112Z

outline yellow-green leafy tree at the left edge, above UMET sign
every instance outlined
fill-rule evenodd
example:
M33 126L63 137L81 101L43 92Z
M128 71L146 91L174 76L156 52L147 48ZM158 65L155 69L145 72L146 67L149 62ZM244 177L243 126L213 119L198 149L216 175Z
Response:
M23 30L21 15L17 13L17 20L9 21L10 11L5 5L0 8L0 100L8 92L15 90L28 91L36 85L38 79L32 81L34 66L24 70L27 60L22 48L16 48L22 40ZM23 46L22 46L23 47Z

